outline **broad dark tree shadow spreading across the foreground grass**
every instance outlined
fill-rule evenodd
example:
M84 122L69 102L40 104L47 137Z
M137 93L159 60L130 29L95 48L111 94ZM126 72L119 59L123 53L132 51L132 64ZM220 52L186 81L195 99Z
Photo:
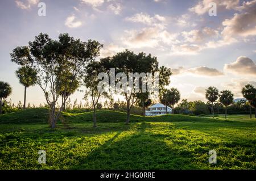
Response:
M163 134L146 133L150 127L142 123L128 136L118 132L69 169L199 169L189 151L172 149Z

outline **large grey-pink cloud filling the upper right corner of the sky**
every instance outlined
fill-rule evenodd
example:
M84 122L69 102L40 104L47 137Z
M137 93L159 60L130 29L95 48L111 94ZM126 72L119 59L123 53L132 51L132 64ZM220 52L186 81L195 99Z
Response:
M256 0L243 2L237 7L240 14L234 14L233 18L225 19L222 25L225 26L222 34L224 36L250 36L256 35Z

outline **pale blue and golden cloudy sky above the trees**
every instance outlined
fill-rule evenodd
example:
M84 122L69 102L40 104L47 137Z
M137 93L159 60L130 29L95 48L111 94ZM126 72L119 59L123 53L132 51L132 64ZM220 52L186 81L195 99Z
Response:
M45 16L38 13L40 2ZM216 16L209 14L212 2ZM151 53L171 68L168 87L176 87L181 99L205 100L209 86L241 98L242 86L256 86L256 0L1 0L0 81L13 87L14 103L23 100L24 87L10 53L40 32L97 40L104 44L98 58L125 49ZM81 91L71 96L83 97ZM46 102L39 86L29 87L27 102Z

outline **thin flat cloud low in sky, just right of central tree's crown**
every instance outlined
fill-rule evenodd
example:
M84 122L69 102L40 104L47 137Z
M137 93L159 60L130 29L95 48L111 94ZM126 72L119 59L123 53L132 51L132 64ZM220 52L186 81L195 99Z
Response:
M190 68L190 69L185 69L182 66L180 66L179 68L171 69L171 70L173 75L184 74L184 73L192 73L192 74L203 75L208 77L224 75L221 71L213 68L208 68L207 66L199 66L197 68Z

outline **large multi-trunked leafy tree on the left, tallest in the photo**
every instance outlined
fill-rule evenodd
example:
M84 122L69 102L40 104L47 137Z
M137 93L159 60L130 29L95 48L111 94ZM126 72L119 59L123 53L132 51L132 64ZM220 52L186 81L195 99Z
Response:
M99 54L102 45L97 41L74 39L63 33L57 40L52 40L47 34L40 33L34 41L30 41L27 47L17 47L11 53L11 61L19 65L27 65L38 71L36 83L41 87L50 108L49 123L52 128L56 127L63 103L60 110L56 111L56 103L61 94L57 86L60 85L63 72L72 74L71 85L81 79L82 70L93 61ZM65 87L65 92L71 92L73 87ZM68 96L65 98L68 99ZM66 101L64 100L64 102Z

